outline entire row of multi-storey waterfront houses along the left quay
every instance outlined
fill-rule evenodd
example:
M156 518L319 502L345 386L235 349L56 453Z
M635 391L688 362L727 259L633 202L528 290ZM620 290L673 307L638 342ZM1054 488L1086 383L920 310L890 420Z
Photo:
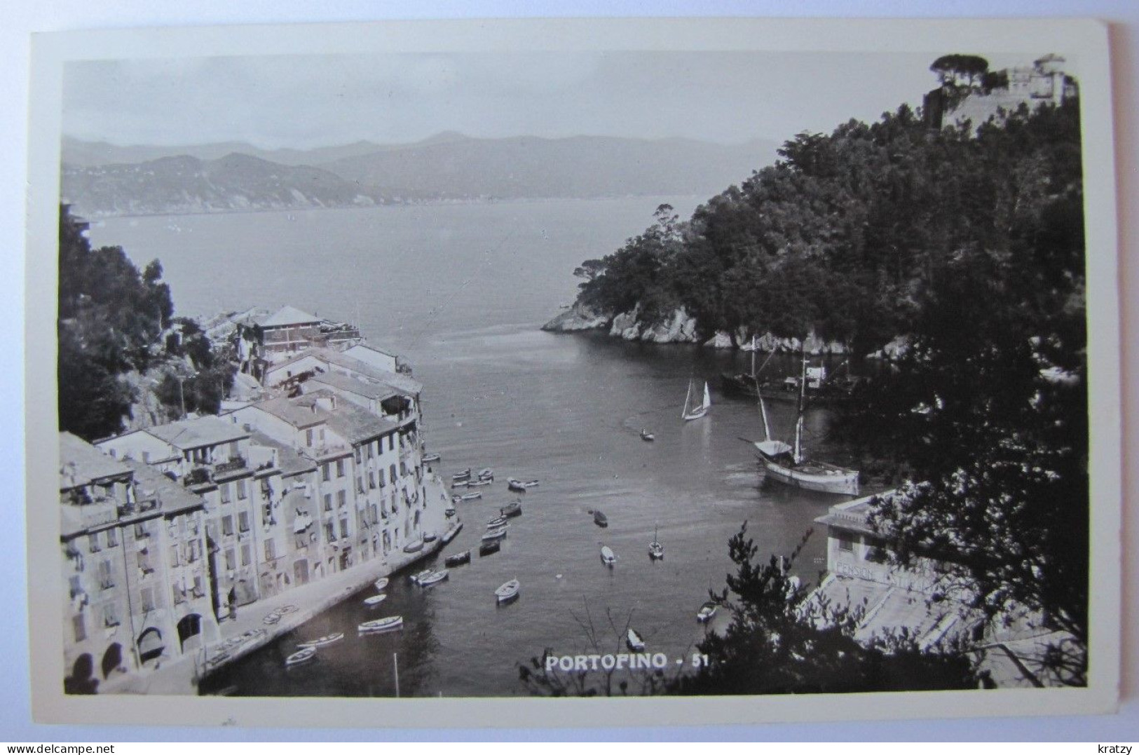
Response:
M69 690L197 653L243 606L364 563L386 573L440 534L421 385L346 346L265 362L274 389L216 417L93 444L60 434Z

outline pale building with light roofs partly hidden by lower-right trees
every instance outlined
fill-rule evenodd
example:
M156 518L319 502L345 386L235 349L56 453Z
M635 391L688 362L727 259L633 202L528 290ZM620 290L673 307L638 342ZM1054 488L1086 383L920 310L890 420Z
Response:
M860 612L854 639L865 645L904 630L921 650L961 648L992 684L1060 686L1044 655L1071 638L1042 629L1038 612L1010 605L989 618L951 564L921 556L904 567L893 563L887 534L870 524L876 499L893 494L836 503L816 519L827 527L827 575L806 605Z

